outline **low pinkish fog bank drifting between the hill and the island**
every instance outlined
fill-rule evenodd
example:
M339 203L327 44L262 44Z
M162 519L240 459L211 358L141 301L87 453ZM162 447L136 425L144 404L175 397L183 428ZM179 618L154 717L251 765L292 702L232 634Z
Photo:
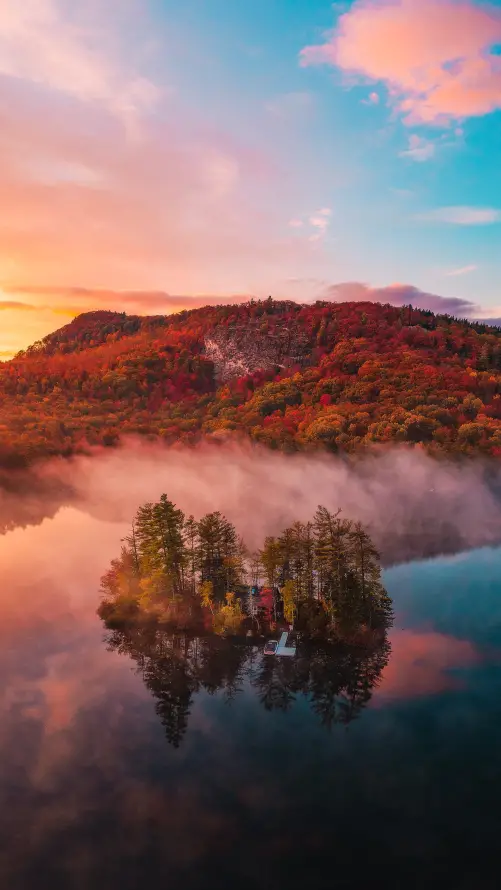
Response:
M418 449L385 450L353 463L252 446L166 449L129 441L45 464L23 488L21 494L0 488L4 527L9 520L40 522L64 504L125 527L140 504L165 492L196 518L220 510L250 547L296 519L310 519L318 504L360 519L386 564L501 541L497 466L436 461ZM73 541L70 525L64 537L67 548L93 546L81 532Z

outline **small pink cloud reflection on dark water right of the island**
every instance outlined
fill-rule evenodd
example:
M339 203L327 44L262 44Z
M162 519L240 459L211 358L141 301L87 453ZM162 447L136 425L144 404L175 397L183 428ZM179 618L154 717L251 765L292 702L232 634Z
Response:
M480 655L468 640L445 634L395 631L391 636L392 654L383 671L375 702L386 699L413 698L457 688L459 680L450 672L472 667Z

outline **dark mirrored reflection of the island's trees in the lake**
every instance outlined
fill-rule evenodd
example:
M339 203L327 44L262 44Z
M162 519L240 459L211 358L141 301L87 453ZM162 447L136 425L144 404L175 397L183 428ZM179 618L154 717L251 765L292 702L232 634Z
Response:
M114 630L107 643L136 662L176 748L200 690L221 692L231 702L246 679L268 711L287 711L302 695L322 726L348 724L370 701L391 651L387 641L372 652L308 644L298 647L296 658L281 659L263 656L251 641L173 634L158 626Z

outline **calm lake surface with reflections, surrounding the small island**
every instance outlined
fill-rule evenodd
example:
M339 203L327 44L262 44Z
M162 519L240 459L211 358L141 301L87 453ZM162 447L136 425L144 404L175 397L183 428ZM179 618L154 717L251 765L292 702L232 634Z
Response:
M123 529L0 539L1 886L497 887L501 550L389 569L370 657L106 632Z

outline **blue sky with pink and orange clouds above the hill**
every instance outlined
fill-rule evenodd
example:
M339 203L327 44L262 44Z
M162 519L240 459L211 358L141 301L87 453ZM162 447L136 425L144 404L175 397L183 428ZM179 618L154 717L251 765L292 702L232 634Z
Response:
M2 0L0 360L92 309L501 317L501 0Z

